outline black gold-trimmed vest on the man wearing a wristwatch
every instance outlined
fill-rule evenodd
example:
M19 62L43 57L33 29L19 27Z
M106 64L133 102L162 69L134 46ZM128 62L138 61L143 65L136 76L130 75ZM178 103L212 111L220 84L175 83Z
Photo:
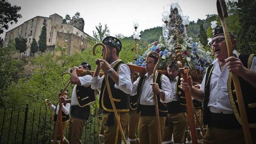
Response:
M118 70L119 70L119 67L120 67L120 65L122 65L122 64L125 64L125 63L123 63L122 61L116 61L113 65L112 65L112 68L118 73ZM116 67L116 65L118 65L117 67ZM109 75L107 75L107 79L109 80L109 82L112 80L111 78L109 79ZM112 80L113 81L113 80ZM101 96L101 99L100 99L100 106L104 109L104 111L107 111L107 112L114 112L114 110L113 109L108 109L108 108L106 108L106 106L104 105L104 99L106 99L105 98L105 93L107 92L107 88L106 88L106 83L105 83L105 78L104 78L104 80L102 81L102 84L104 84L104 88L103 88L103 91L101 90L101 92L102 92L102 96ZM112 87L114 87L114 86L112 86ZM110 86L110 88L111 88L111 86ZM121 91L121 90L120 90ZM122 92L122 97L124 97L123 99L121 98L121 99L118 99L118 98L114 98L115 97L115 95L113 95L113 91L111 90L111 93L112 93L112 97L113 97L113 101L114 102L118 102L118 103L120 103L121 101L125 101L125 99L126 99L126 97L129 97L129 94L127 94L127 95L123 95L123 94L125 94L124 92ZM107 93L107 95L108 95L108 93ZM109 100L110 101L110 100ZM110 103L111 104L111 103ZM127 101L127 109L125 108L125 109L123 109L125 106L120 106L120 107L122 107L122 108L118 108L118 104L117 103L115 103L115 106L116 106L116 111L117 112L128 112L129 111L129 101ZM120 104L119 104L120 105ZM112 107L112 105L111 105L111 107Z

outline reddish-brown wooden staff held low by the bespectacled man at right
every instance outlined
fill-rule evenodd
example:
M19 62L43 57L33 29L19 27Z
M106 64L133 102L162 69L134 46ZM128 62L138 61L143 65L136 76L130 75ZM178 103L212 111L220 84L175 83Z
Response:
M189 68L188 67L182 67L180 61L177 61L178 67L179 67L179 73L181 74L184 81L187 83L189 79ZM191 98L191 91L189 90L185 91L185 97L186 97L186 106L188 111L188 119L189 119L189 129L191 133L191 139L193 144L197 144L197 136L195 131L195 119L194 119L194 113L192 109L192 98Z

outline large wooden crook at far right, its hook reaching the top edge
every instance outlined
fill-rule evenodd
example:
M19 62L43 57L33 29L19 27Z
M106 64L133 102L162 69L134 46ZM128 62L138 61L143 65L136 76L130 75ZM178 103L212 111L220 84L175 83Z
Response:
M225 36L225 40L226 40L226 44L227 44L228 57L230 57L230 56L233 56L233 49L232 49L232 45L231 45L230 35L227 30L227 24L225 22L225 17L228 17L225 0L217 0L217 10L218 10L218 15L220 17L221 25L222 25L223 31L224 31L224 36ZM250 134L250 127L248 124L246 110L245 110L245 106L244 106L244 102L243 102L241 86L240 86L239 79L238 79L237 75L233 72L232 72L232 79L234 82L235 92L237 95L244 138L245 138L246 144L252 144L253 141L252 141L252 137Z

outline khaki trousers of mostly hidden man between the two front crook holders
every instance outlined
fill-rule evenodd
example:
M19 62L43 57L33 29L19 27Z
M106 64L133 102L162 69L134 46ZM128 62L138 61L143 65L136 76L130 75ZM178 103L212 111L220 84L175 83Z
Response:
M131 144L136 144L136 130L140 120L140 113L137 111L129 111L129 121L128 121L128 138Z

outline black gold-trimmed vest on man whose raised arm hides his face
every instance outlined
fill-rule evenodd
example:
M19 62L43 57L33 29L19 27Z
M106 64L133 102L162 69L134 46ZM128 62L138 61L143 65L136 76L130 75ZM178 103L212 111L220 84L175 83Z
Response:
M79 90L81 90L82 93L79 93ZM85 93L87 93L87 95L85 95ZM77 98L77 101L78 101L78 105L80 107L85 107L85 106L88 106L89 104L91 104L93 102L96 102L94 90L91 89L91 84L89 84L87 86L77 85L76 95L77 95L76 98Z

